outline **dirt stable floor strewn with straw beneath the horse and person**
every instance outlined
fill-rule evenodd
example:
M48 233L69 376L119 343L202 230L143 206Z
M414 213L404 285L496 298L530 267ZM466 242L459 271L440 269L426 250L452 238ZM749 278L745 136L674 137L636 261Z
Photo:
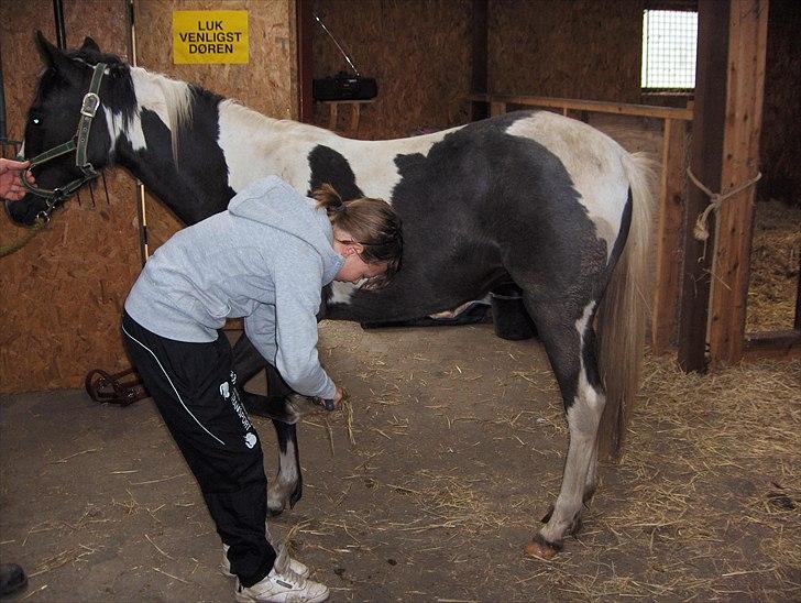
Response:
M352 413L307 417L304 498L272 526L333 601L801 599L801 362L700 376L649 358L624 458L542 561L523 546L567 430L540 346L491 325L321 332ZM31 577L17 600L232 600L150 399L3 396L0 437L0 557Z

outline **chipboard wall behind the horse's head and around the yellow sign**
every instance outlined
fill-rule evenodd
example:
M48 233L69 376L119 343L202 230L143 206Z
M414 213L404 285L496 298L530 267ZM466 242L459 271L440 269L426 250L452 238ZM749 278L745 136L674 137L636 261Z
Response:
M124 0L65 0L67 45L91 35L101 48L128 53ZM249 65L173 65L172 11L219 9L220 2L138 1L139 65L200 84L266 114L296 114L295 18L292 0L230 1L250 22ZM21 138L24 113L41 72L33 32L54 41L52 0L0 1L2 58L9 134ZM69 201L51 227L17 254L2 259L0 392L80 386L90 369L128 365L119 338L122 304L140 270L135 187L122 171L107 171L109 201L91 208ZM151 201L156 246L178 227ZM0 217L0 241L22 231Z

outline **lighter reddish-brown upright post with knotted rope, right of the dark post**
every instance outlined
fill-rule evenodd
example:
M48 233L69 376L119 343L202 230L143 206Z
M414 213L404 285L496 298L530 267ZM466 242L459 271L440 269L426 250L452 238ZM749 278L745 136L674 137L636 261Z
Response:
M768 0L731 0L722 190L759 172ZM710 369L743 358L756 187L723 200L712 266Z

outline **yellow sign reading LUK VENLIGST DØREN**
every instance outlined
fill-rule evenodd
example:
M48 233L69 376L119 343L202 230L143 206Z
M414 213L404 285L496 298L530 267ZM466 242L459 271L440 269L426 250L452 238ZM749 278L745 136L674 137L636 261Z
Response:
M173 11L175 64L248 61L248 11Z

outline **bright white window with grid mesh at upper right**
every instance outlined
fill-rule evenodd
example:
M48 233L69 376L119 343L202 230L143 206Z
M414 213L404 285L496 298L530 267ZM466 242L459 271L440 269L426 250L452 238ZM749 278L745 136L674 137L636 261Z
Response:
M694 88L698 13L643 13L643 88Z

